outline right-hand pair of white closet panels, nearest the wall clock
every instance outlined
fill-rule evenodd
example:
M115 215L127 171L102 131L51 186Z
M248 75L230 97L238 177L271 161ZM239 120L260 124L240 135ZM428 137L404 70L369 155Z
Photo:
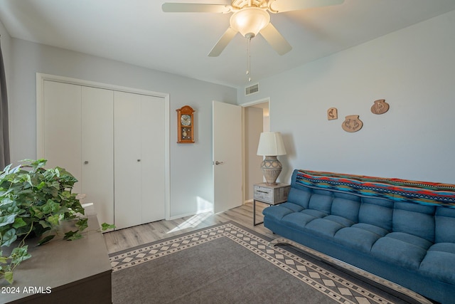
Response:
M117 229L164 219L164 99L114 93Z

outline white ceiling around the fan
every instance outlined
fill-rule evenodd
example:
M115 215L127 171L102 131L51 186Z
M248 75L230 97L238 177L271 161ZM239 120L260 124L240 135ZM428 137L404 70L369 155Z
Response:
M164 1L0 0L0 20L14 38L80 51L233 87L248 85L247 40L237 34L219 57L207 54L231 14L163 13ZM287 1L287 0L277 0ZM455 0L346 0L339 6L272 14L293 49L279 56L252 39L252 83L455 9Z

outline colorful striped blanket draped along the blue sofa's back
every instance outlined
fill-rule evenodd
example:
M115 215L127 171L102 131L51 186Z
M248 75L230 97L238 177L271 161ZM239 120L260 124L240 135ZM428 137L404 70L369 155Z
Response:
M455 208L455 185L388 179L354 174L299 170L296 184L336 192L375 196L392 201Z

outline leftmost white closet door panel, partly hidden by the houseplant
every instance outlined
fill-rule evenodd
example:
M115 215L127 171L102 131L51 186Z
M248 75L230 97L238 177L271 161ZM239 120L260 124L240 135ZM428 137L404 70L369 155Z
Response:
M46 167L63 167L81 179L81 87L45 80L43 84L43 154ZM80 183L73 189L81 193Z

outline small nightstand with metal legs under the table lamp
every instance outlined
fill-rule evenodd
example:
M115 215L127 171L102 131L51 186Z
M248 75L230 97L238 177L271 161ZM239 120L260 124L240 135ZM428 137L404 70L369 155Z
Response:
M291 185L289 184L276 184L269 185L266 183L255 184L255 194L253 199L253 225L262 224L256 223L256 201L260 201L269 205L277 205L287 201L287 195L289 194Z

